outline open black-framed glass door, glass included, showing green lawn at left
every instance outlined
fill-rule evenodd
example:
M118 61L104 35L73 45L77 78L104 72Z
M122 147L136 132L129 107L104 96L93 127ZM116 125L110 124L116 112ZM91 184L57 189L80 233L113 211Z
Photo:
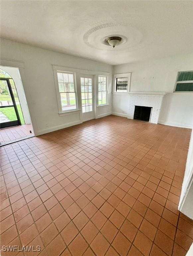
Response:
M0 78L0 129L21 125L9 78Z

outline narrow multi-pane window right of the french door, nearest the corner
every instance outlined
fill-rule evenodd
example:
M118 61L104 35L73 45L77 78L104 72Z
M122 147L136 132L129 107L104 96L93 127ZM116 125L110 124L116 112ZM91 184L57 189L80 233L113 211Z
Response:
M99 76L98 82L98 105L107 104L107 77Z

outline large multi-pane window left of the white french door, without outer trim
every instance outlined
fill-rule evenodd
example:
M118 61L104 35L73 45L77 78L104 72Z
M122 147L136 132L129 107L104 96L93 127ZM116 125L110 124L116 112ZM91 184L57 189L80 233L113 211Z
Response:
M57 79L62 111L76 109L77 104L74 73L63 73L57 71Z

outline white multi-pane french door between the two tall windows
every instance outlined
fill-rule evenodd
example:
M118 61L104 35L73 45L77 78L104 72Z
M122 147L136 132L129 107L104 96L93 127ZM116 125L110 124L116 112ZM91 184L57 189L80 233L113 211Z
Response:
M94 118L94 79L92 75L80 75L82 119L87 121Z

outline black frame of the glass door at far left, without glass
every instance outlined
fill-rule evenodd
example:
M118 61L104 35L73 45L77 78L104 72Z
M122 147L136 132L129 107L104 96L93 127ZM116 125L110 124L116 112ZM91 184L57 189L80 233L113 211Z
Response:
M20 120L19 112L18 112L18 109L17 109L17 105L16 105L16 102L15 102L15 98L14 98L14 94L13 94L13 91L12 91L12 88L11 88L11 83L9 81L9 78L0 77L0 80L7 82L9 93L10 93L10 96L11 96L11 99L12 99L12 102L13 102L13 105L11 105L11 106L0 106L0 108L14 107L15 113L16 113L16 117L17 117L17 120L1 123L0 129L8 128L8 127L16 126L16 125L21 125L21 120Z

